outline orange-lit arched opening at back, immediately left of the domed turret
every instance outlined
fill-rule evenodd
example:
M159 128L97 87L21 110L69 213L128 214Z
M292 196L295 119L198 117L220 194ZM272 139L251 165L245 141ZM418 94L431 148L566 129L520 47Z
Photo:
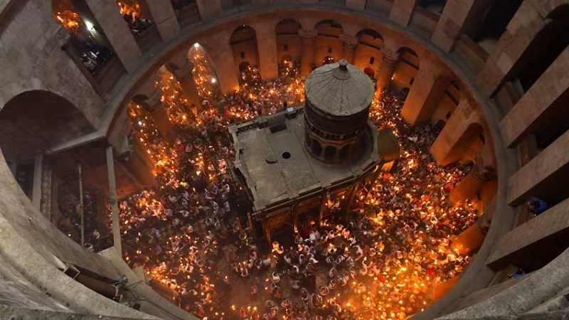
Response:
M302 41L300 23L294 19L284 19L275 26L277 34L277 56L280 57L279 75L281 78L293 76L300 68Z

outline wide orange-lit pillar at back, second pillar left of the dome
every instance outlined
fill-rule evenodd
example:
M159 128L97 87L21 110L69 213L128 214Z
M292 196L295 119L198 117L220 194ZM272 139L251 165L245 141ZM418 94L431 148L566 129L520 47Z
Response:
M251 25L257 33L257 50L259 54L259 68L262 80L276 79L279 74L277 57L277 33L275 26L270 23L253 23Z

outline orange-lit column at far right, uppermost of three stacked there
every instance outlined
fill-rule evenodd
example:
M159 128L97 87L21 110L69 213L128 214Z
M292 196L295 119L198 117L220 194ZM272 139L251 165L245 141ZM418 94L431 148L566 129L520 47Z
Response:
M449 201L454 206L459 206L478 196L478 192L484 187L486 182L496 178L496 171L493 168L484 166L481 154L477 154L476 164L472 170L462 178L450 191Z

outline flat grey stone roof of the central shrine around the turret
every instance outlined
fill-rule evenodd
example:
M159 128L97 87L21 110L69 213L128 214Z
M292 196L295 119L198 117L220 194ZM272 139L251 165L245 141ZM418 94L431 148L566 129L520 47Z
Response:
M229 127L237 154L235 169L245 179L255 211L361 176L378 164L378 131L371 122L366 149L356 161L326 164L315 159L303 145L303 113L299 106Z

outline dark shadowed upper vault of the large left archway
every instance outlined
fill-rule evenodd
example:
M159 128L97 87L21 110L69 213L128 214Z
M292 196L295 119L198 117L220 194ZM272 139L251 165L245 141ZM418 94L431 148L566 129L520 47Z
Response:
M6 161L28 161L35 154L95 127L73 103L46 90L13 97L0 110L0 147Z

